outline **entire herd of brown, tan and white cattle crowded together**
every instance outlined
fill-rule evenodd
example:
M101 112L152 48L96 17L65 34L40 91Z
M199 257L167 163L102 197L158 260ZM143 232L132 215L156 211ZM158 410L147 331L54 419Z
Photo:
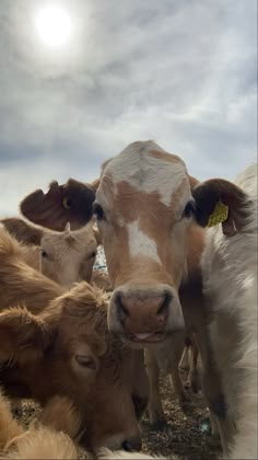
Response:
M2 457L78 458L82 445L140 458L142 414L165 417L160 370L187 398L190 345L223 458L257 459L257 165L200 183L139 141L92 184L54 182L20 208L0 225ZM99 244L108 275L93 269ZM43 407L27 430L21 399Z

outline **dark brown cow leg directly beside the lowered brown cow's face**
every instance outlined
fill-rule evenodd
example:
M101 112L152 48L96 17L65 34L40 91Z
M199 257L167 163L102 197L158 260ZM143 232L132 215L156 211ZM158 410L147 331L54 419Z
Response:
M145 369L144 352L134 349L132 353L132 401L139 419L148 407L150 384Z

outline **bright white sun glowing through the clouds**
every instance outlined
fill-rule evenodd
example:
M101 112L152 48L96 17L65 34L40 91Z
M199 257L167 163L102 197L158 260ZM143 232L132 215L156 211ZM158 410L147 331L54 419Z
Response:
M71 16L67 10L47 5L37 11L35 27L40 42L49 48L66 45L72 32Z

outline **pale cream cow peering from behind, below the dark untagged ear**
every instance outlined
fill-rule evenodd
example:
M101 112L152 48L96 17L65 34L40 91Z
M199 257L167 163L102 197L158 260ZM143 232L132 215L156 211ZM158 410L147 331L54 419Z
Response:
M3 227L26 249L26 262L58 284L70 287L79 280L90 281L99 237L91 221L82 229L62 232L30 225L21 218L2 219Z

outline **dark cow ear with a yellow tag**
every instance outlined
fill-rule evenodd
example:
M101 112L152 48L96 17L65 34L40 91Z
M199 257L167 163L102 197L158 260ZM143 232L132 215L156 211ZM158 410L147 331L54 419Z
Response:
M192 196L196 200L196 220L200 226L222 223L223 233L230 237L245 226L248 197L235 184L212 179L198 184Z

